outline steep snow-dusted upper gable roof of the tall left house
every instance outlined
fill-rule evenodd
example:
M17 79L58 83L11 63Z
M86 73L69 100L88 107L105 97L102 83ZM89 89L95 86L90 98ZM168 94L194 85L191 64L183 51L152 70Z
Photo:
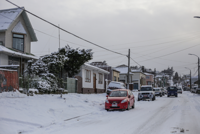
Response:
M37 41L37 37L35 35L35 32L33 30L33 27L31 25L31 22L28 18L28 15L26 12L23 10L24 8L12 8L12 9L5 9L5 10L0 10L0 31L6 31L12 24L13 22L16 21L16 19L22 15L23 20L25 22L25 25L29 31L31 41ZM14 28L14 31L18 30L20 33L23 32L24 30L22 28L22 25L18 22L16 27Z

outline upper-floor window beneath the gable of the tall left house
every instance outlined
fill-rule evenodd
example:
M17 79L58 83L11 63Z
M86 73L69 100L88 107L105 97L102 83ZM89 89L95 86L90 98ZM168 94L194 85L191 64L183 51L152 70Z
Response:
M13 34L13 48L24 52L24 35Z

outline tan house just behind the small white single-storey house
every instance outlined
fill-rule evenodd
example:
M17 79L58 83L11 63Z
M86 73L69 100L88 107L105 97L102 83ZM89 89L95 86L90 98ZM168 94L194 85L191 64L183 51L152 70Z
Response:
M103 62L92 62L90 65L99 67L101 69L104 69L109 72L109 74L105 74L104 80L107 79L109 81L119 81L119 71L117 71L115 68L109 66L106 61Z

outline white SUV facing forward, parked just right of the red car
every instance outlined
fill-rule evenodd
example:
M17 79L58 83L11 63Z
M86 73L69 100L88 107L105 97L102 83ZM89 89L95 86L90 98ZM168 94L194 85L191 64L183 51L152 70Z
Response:
M156 99L155 92L151 85L143 85L138 92L138 101L151 99L154 101Z

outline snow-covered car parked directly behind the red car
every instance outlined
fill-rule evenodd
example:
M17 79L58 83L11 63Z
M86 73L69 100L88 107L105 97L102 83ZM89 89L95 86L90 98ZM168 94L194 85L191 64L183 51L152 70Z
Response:
M107 88L107 91L106 91L107 95L109 95L110 92L111 92L112 90L115 90L115 89L126 89L126 86L125 86L125 84L122 83L122 82L111 81L111 82L109 83L108 88Z

